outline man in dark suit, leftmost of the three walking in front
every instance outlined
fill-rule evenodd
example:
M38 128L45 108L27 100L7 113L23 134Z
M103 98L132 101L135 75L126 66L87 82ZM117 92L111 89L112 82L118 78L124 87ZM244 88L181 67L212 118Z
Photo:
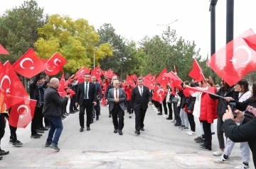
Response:
M92 108L97 105L97 93L95 84L90 82L90 74L85 74L85 82L82 82L78 86L78 93L76 93L75 106L79 110L80 132L83 132L85 128L85 109L86 109L86 127L87 131L90 131L90 123L92 120Z

